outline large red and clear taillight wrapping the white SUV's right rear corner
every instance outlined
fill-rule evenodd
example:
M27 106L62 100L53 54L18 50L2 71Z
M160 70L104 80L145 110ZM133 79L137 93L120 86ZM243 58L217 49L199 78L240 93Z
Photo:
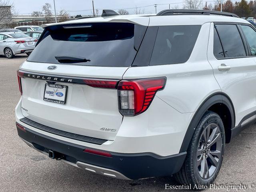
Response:
M134 116L148 109L157 91L164 89L166 77L122 80L118 84L119 111Z

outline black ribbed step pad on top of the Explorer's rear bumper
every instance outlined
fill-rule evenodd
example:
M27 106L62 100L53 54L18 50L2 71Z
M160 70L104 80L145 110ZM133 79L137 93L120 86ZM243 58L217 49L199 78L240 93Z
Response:
M101 145L101 144L103 144L104 142L107 141L107 140L104 140L104 139L98 139L98 138L94 138L94 137L88 137L88 136L83 136L83 135L78 135L78 134L58 130L58 129L48 127L48 126L39 124L37 122L34 122L34 121L32 121L32 120L30 120L26 117L20 119L20 121L29 125L29 126L32 126L34 128L43 130L45 132L52 133L52 134L62 136L62 137L66 137L66 138L70 138L70 139L74 139L74 140L78 140L78 141L82 141L82 142Z

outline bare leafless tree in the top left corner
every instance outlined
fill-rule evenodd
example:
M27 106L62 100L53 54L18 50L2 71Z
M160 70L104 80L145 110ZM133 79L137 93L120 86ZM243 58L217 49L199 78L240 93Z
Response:
M12 26L12 19L16 15L14 5L9 0L0 0L0 28Z

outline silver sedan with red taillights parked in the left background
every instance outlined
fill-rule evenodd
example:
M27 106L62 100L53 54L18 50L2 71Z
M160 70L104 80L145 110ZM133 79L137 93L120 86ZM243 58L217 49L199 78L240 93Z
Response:
M23 33L0 32L0 55L11 59L16 54L26 53L29 55L35 48L36 38Z

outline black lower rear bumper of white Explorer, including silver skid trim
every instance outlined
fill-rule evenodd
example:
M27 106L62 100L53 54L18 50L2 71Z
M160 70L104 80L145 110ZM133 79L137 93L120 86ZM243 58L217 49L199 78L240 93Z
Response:
M49 150L53 150L62 154L62 161L68 164L112 178L134 180L172 175L180 170L186 157L186 152L164 157L153 153L110 152L112 154L110 158L83 152L84 146L58 140L29 128L26 128L26 132L19 128L17 130L18 135L26 144L43 154L48 154Z

